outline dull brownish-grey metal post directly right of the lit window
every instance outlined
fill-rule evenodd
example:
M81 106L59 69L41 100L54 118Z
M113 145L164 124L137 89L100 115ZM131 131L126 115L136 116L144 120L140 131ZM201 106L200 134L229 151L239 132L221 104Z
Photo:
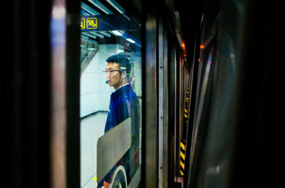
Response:
M157 18L145 23L145 187L157 187Z

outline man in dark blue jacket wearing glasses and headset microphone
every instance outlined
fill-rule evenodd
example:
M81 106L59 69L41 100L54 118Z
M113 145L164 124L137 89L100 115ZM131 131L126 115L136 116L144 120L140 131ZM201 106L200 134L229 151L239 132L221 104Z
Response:
M126 118L131 118L132 142L130 149L120 159L117 165L123 165L128 182L138 170L139 166L139 136L140 136L140 104L138 96L133 91L130 80L130 60L125 54L112 55L106 60L106 84L114 87L115 92L110 96L109 113L105 124L105 132L117 126ZM105 187L110 187L110 177L115 170L111 170L103 180ZM100 182L99 186L102 186Z

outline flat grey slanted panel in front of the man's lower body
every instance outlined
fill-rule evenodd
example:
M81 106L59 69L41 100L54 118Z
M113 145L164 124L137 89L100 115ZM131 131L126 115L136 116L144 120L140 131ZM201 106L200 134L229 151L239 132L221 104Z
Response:
M131 143L130 118L107 131L97 143L97 182L115 166Z

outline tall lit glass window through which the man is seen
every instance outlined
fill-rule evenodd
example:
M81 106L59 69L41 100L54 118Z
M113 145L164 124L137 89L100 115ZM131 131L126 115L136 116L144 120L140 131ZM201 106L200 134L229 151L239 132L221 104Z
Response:
M81 1L83 188L140 183L141 11L124 3Z

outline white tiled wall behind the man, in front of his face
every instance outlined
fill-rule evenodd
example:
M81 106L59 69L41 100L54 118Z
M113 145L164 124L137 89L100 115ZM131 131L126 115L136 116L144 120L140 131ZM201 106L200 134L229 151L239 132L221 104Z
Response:
M105 84L106 62L110 55L115 54L120 45L99 45L99 51L89 63L81 76L81 117L95 111L108 111L110 94L113 87Z

